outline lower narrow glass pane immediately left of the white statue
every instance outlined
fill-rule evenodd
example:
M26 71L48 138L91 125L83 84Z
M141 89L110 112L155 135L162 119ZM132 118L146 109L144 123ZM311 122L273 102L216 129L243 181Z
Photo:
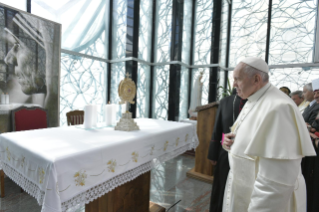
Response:
M181 88L179 95L179 120L187 118L188 111L188 86L189 69L182 66L181 70Z

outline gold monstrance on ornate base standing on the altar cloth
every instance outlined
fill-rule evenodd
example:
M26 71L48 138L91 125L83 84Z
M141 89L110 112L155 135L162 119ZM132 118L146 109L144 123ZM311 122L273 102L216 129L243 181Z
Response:
M118 93L121 101L120 104L126 103L126 112L122 114L122 118L116 124L115 130L121 131L132 131L132 130L139 130L140 128L132 119L132 113L129 110L129 104L134 104L133 101L136 95L136 86L134 81L130 78L130 74L126 73L126 77L122 80L119 84Z

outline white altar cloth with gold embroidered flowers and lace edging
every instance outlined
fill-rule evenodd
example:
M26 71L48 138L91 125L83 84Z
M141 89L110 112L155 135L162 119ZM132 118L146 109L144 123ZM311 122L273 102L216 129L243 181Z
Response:
M42 212L74 211L198 145L192 124L135 121L139 131L71 126L1 134L1 166Z

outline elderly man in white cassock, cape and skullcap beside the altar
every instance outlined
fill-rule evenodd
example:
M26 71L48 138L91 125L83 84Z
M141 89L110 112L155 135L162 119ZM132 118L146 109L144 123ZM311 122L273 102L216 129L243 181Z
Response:
M233 73L248 101L223 143L230 164L223 212L306 211L300 162L316 153L296 104L268 82L268 70L246 58Z

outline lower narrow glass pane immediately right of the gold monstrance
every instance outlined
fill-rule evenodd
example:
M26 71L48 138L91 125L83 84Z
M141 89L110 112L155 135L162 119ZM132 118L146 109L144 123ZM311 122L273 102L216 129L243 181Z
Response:
M149 99L150 99L150 81L151 81L151 67L148 65L138 64L137 71L137 105L136 117L149 117Z

